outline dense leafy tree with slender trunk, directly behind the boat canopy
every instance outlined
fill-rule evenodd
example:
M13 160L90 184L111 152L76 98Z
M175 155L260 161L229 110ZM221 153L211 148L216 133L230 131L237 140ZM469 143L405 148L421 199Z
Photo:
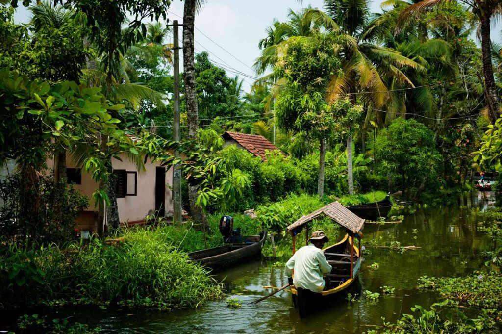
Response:
M320 197L324 195L326 140L332 135L334 125L326 94L330 76L339 71L339 66L333 36L319 33L313 37L291 37L283 42L275 66L284 84L276 102L279 126L319 141L317 194Z

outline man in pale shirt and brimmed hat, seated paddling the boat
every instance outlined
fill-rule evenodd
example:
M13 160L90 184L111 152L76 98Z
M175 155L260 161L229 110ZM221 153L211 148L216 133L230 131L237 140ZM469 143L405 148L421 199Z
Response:
M286 263L286 275L290 284L314 292L329 288L329 277L323 276L331 272L331 266L321 250L328 241L324 232L316 231L312 233L309 244L296 251Z

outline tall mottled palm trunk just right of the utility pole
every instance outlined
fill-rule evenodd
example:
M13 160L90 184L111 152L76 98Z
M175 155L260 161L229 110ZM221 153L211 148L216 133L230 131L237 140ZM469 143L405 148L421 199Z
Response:
M187 106L188 139L194 140L197 136L198 109L197 95L195 91L195 56L194 56L194 25L195 25L195 0L185 0L183 12L183 67L185 80L185 99ZM194 226L197 230L203 230L206 221L202 209L195 204L197 200L197 185L188 186L188 197ZM209 231L209 226L205 226Z

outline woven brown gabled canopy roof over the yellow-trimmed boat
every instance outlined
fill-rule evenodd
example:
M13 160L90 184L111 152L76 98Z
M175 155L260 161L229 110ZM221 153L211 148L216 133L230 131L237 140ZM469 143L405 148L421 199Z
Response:
M360 218L355 213L351 212L345 206L336 201L329 203L328 205L323 206L310 214L304 215L293 224L288 226L286 228L286 231L296 235L297 233L294 233L294 230L301 230L309 222L323 214L331 218L334 222L345 228L347 232L350 232L352 234L358 233L364 225L364 219Z

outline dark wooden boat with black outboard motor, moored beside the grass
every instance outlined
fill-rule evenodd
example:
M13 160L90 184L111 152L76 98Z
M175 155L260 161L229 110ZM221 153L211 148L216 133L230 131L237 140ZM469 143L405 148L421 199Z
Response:
M241 237L238 230L233 230L231 216L221 217L220 233L226 245L188 253L190 259L217 271L223 267L259 257L267 239L267 231L259 236Z

